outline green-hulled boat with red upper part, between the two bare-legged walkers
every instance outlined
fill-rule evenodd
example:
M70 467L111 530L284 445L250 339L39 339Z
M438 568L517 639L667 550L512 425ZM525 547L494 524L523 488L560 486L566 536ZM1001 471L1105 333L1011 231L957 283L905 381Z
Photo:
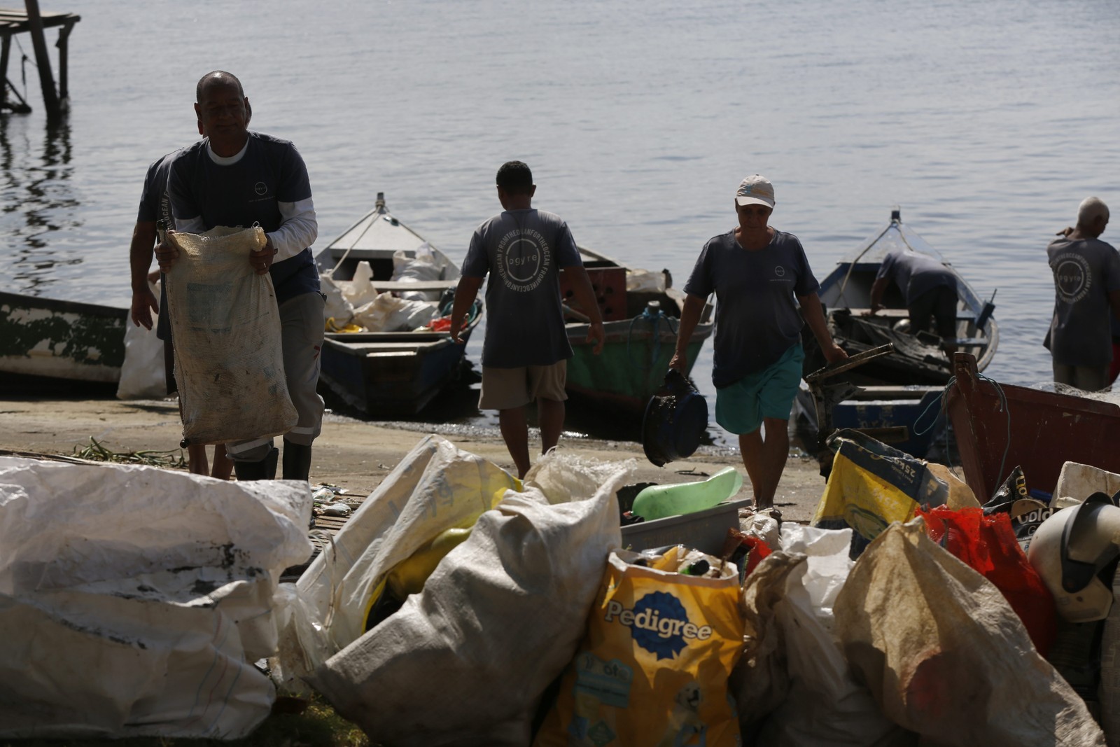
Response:
M575 306L575 293L561 270L568 340L575 353L568 361L568 393L596 407L641 414L669 372L684 293L672 288L668 270L628 268L582 246L579 252L591 278L606 339L603 352L592 354L586 343L587 317ZM689 340L690 371L712 327L712 307L706 304Z

